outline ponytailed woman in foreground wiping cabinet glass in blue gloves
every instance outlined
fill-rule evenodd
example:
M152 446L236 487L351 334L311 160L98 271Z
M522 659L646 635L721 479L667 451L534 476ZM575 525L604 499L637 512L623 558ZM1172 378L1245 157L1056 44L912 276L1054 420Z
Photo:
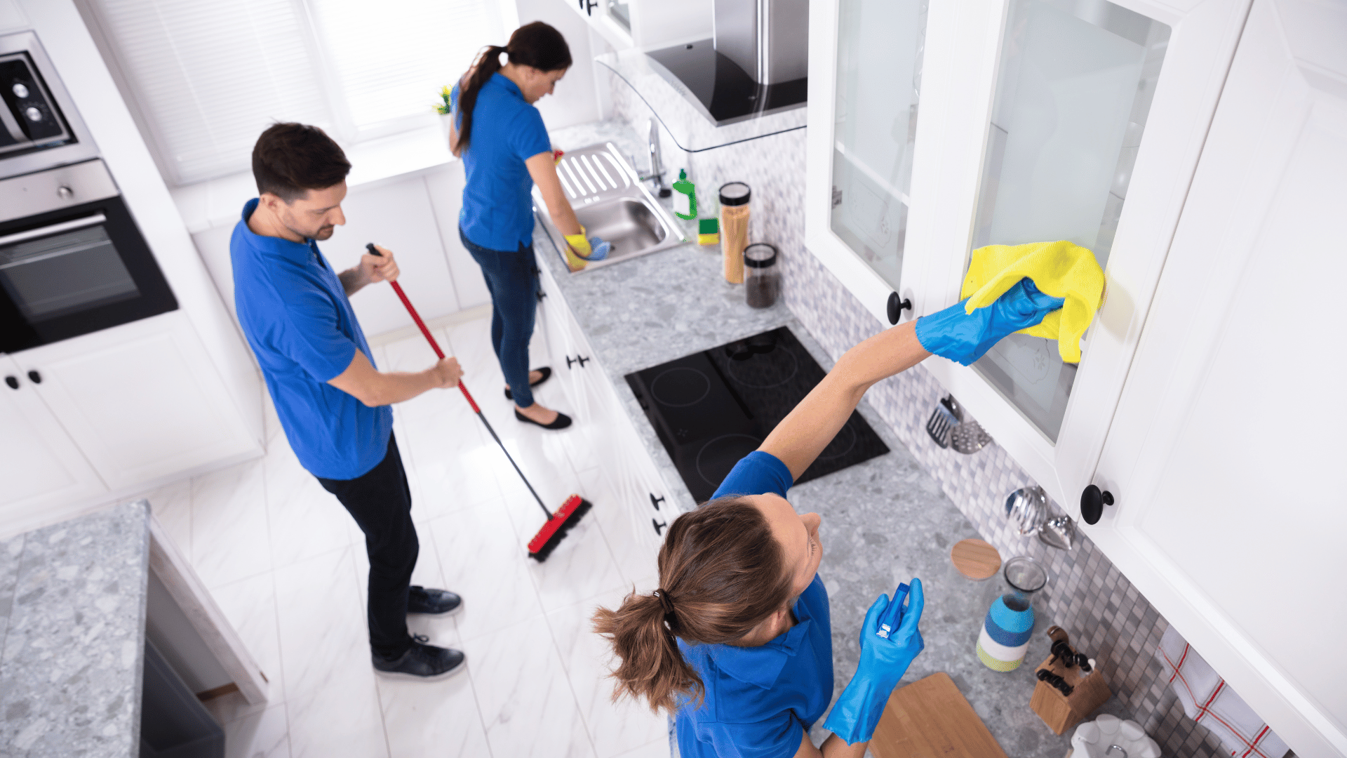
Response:
M819 514L796 514L785 492L874 383L932 353L967 366L1061 303L1022 279L986 308L964 313L959 302L847 351L711 500L669 525L659 589L594 614L618 660L614 697L671 712L683 758L863 755L924 647L921 580L901 620L885 614L886 595L865 615L855 676L823 723L832 734L815 747L810 727L832 699L832 622L818 573Z

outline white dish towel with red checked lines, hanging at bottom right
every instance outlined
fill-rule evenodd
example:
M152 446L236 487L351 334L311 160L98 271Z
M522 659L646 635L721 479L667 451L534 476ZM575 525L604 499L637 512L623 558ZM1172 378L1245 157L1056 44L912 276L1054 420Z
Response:
M1281 758L1290 750L1175 627L1165 630L1157 654L1183 712L1215 732L1231 755Z

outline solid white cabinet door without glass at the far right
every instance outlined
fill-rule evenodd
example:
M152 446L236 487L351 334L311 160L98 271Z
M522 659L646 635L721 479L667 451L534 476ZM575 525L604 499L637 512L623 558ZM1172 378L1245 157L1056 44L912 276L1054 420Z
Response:
M1347 755L1347 7L1255 0L1084 531L1299 755Z

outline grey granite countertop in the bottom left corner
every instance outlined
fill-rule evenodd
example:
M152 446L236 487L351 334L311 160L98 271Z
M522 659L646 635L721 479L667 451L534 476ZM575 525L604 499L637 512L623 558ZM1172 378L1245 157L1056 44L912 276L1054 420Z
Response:
M0 541L5 755L136 755L148 576L144 500Z

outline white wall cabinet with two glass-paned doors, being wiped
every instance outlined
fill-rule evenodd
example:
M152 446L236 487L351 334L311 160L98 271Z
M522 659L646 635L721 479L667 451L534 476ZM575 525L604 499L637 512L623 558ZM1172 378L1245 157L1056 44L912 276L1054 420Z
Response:
M881 7L898 46L872 39ZM811 34L807 244L877 318L889 322L893 291L908 318L955 303L985 244L1067 239L1105 266L1079 367L1020 334L973 367L925 364L1057 502L1094 473L1246 12L1247 0L811 7L827 34ZM902 66L893 103L876 103L874 55Z

